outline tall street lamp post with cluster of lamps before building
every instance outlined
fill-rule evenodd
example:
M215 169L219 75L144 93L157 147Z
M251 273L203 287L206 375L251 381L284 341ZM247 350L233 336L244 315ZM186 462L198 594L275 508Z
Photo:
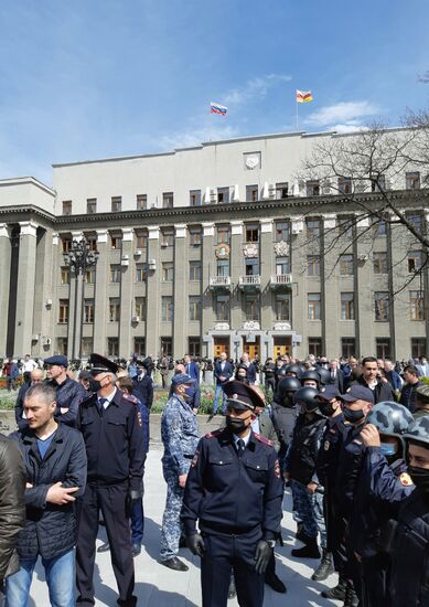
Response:
M81 328L83 327L83 307L84 307L84 289L83 281L84 275L87 269L95 266L98 259L98 251L90 251L88 243L83 238L81 241L72 241L72 247L68 252L63 253L64 263L71 269L75 276L75 305L74 305L74 318L73 318L73 348L72 358L76 358L76 341L77 358L81 359L82 352L82 329L81 336L77 340L77 309L78 309L78 291L81 291ZM82 287L82 288L79 288Z

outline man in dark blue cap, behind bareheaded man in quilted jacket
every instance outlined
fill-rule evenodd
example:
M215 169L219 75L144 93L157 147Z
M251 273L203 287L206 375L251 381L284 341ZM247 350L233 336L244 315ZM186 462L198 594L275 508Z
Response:
M55 419L68 426L74 426L79 404L88 397L88 393L79 382L68 377L66 356L50 356L43 362L46 368L47 384L56 392Z

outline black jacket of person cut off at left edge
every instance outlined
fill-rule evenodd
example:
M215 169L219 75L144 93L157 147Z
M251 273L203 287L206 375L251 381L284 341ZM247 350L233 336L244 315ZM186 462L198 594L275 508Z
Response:
M17 535L25 523L25 469L17 445L0 434L0 584L18 572Z

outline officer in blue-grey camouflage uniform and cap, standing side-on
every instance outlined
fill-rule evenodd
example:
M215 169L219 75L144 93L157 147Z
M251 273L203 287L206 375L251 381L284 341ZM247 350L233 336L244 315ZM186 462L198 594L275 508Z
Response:
M160 562L170 569L185 572L189 569L187 565L178 558L180 511L191 460L199 443L199 428L186 394L194 380L185 373L178 373L171 384L173 394L161 417L161 438L164 446L162 471L167 482L167 500L162 517Z

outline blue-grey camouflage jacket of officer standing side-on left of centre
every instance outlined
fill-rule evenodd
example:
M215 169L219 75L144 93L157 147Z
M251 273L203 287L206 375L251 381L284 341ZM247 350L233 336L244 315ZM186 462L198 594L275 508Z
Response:
M162 412L161 438L164 470L178 476L186 475L199 444L199 427L191 406L176 394L168 400Z

